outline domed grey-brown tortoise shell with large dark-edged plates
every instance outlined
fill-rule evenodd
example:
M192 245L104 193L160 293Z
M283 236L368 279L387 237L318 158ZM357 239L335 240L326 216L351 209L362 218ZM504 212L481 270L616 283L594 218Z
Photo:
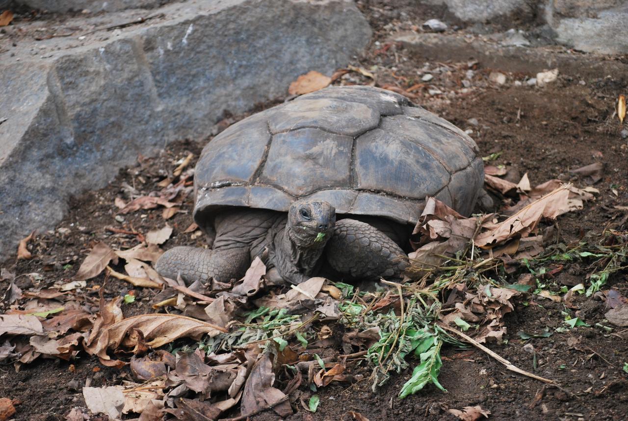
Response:
M196 166L194 219L310 198L415 224L427 196L468 215L483 182L477 145L453 124L387 90L327 87L212 139Z

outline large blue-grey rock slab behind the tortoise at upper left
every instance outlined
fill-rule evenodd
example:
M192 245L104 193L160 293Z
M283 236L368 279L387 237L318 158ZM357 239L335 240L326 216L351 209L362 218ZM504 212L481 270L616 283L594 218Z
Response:
M225 111L283 96L309 70L331 74L371 36L346 0L188 1L99 30L129 12L79 31L67 19L57 32L72 36L0 44L0 256L139 153L205 138Z

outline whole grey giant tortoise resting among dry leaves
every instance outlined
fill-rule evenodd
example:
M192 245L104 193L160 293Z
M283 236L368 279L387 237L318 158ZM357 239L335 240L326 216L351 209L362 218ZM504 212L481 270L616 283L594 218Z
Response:
M156 269L229 282L260 256L276 281L399 279L426 197L468 215L483 182L477 145L453 124L387 90L327 87L203 148L193 218L211 248L172 248Z

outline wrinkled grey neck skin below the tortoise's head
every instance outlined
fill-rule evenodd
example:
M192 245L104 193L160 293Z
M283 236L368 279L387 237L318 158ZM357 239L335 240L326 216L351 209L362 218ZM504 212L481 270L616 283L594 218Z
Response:
M274 237L274 264L281 277L287 282L298 284L308 280L317 268L329 235L323 241L301 238L295 229L286 223L284 229Z

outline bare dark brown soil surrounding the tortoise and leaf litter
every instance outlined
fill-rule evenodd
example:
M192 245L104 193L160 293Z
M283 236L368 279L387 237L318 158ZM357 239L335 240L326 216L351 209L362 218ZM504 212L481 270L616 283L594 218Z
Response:
M600 191L595 202L560 217L558 227L563 241L594 236L607 226L619 229L617 224L621 221L625 224L628 211L615 209L615 206L628 204L628 146L626 139L620 136L619 121L613 116L617 96L626 93L625 80L616 80L612 75L600 75L593 80L560 75L555 83L539 88L525 83L534 75L484 68L482 63L469 65L468 57L452 57L447 63L425 62L389 39L398 31L411 30L413 25L420 27L428 18L451 16L438 8L412 8L408 1L361 1L359 6L369 17L376 36L364 57L353 64L373 72L377 85L389 84L404 90L421 82L422 74L432 74L434 79L430 80L429 87L413 91L417 96L413 101L462 129L470 129L470 136L479 145L482 155L499 153L494 163L511 168L509 174L514 180L527 172L533 185L560 178L584 187L586 180L570 170L596 161L604 163L602 180L594 185ZM495 23L490 29L507 27ZM473 71L471 79L467 78L468 70ZM506 74L507 83L490 82L488 76L494 71ZM462 80L469 80L470 86L465 88ZM522 84L515 85L515 80ZM335 83L369 84L372 80L350 73ZM430 94L428 89L441 93ZM225 128L242 117L225 116L220 127ZM121 170L105 189L75 198L70 204L70 214L58 228L37 236L31 250L35 256L32 260L12 258L0 266L18 274L38 272L45 275L46 283L53 283L69 279L96 241L106 241L115 248L134 246L136 236L114 233L107 227L148 232L163 226L161 209L129 214L119 222L114 219L116 197L124 197L129 189L153 190L156 182L171 172L173 162L190 152L198 157L204 143L182 139L156 158L139 157L136 167ZM192 222L191 212L190 195L181 211L168 221L174 232L166 248L203 244L202 236L193 238L193 234L183 232ZM583 276L575 263L569 273ZM103 282L104 275L99 275L89 284ZM32 286L33 280L21 276L16 283L24 290ZM560 284L560 280L556 283ZM608 286L628 295L628 272L624 270L610 276ZM127 283L109 279L105 296L124 295L131 288ZM0 282L0 289L5 290L6 283ZM123 307L125 315L152 311L148 300L154 292L136 288L135 293L137 301ZM97 292L85 294L87 302L97 307ZM521 303L507 316L507 343L492 345L491 349L519 368L558 381L562 388L544 386L539 381L511 373L477 349L460 351L445 347L440 382L447 393L430 385L416 395L399 400L396 396L411 374L408 370L394 376L374 393L369 381L321 389L318 392L321 404L316 413L299 407L300 412L288 419L349 420L351 417L346 413L353 410L370 420L398 420L399 417L453 420L456 418L446 412L447 408L480 405L490 410L492 420L625 420L628 374L622 371L622 365L628 361L628 329L615 328L609 333L595 327L604 319L607 309L604 303L581 296L575 300L575 305L580 307L583 320L592 327L576 327L524 342L517 332L542 332L546 327L560 325L563 320L561 304L540 297L527 304ZM533 355L524 349L524 344L536 349L536 368ZM367 377L369 373L364 363L352 367L352 374ZM77 361L69 363L40 358L18 372L11 365L0 366L0 398L21 401L16 420L62 420L72 407L84 405L81 386L85 381L89 380L92 386L112 385L129 376L128 369L105 368L85 354L79 354ZM543 397L533 403L535 395L541 392ZM307 388L301 386L300 393L306 396ZM279 418L273 412L265 412L251 419Z

